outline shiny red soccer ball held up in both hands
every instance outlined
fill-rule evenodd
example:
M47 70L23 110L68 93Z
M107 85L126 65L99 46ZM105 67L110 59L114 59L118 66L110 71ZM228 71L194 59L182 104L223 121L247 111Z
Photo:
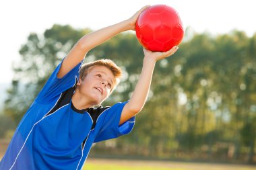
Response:
M144 48L163 52L179 45L185 31L175 9L167 5L152 5L139 15L135 32Z

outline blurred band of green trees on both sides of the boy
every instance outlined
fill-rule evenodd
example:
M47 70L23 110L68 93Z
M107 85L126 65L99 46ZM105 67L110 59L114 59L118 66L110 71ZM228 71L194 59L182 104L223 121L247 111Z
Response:
M28 36L20 49L21 60L13 66L15 77L5 101L5 114L16 124L61 59L90 31L54 25L43 35ZM104 153L109 146L115 148L113 153L164 159L243 160L247 155L253 163L255 49L256 34L251 38L238 31L218 36L195 34L180 45L177 54L157 62L148 101L136 116L133 132L96 144L93 150ZM143 62L135 34L115 36L90 50L85 61L99 58L114 60L124 72L103 105L129 99Z

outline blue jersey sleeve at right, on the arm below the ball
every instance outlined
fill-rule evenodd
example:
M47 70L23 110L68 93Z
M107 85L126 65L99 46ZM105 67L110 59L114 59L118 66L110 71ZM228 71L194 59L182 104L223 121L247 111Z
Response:
M104 119L101 123L100 130L96 135L94 142L108 140L110 138L117 138L124 134L129 134L135 124L135 116L124 122L119 126L121 113L123 107L128 101L123 103L116 103L112 107L105 110Z

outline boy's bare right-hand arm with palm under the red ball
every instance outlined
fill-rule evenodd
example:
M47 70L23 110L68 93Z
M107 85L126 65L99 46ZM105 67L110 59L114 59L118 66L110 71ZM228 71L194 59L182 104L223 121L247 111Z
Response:
M156 61L171 56L178 50L178 48L178 46L174 46L167 52L152 52L150 50L146 50L145 48L143 49L144 59L141 75L133 91L131 99L129 99L128 103L123 108L119 125L123 124L125 121L129 120L142 110L148 97L148 91L150 90L150 84Z

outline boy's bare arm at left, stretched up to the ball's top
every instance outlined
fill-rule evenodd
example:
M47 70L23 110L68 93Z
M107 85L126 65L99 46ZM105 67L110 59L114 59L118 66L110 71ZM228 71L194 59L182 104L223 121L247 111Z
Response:
M75 46L73 46L69 54L67 54L67 56L63 60L61 69L59 70L57 77L61 78L64 75L66 75L69 71L71 71L73 67L75 67L79 62L81 62L84 59L84 57L86 56L86 53L92 48L102 44L103 42L105 42L106 40L109 40L110 38L113 38L120 32L124 32L127 30L134 30L137 17L141 13L141 11L143 11L147 7L149 7L149 5L142 7L132 17L130 17L129 19L123 22L119 22L118 24L114 24L112 26L102 28L100 30L91 32L90 34L86 34L85 36L83 36L75 44Z

